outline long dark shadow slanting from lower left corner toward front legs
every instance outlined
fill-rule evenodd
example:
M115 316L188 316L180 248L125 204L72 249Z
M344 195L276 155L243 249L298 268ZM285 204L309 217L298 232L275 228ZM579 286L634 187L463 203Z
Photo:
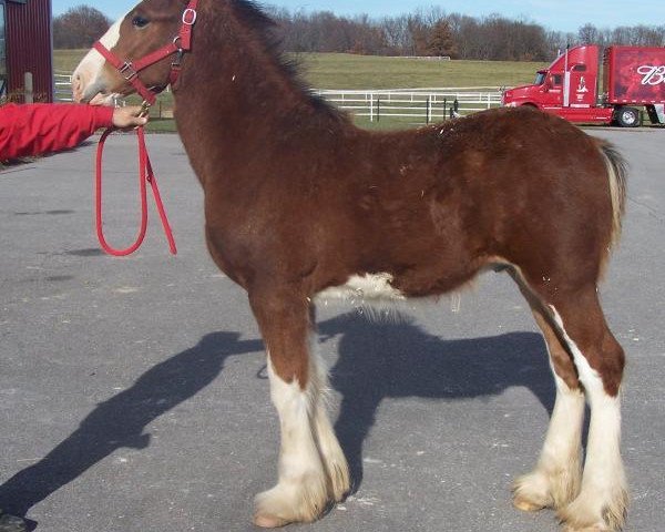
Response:
M38 463L0 487L0 508L23 518L28 511L88 469L122 448L145 449L144 429L215 380L233 355L257 352L260 340L215 332L143 374L134 385L100 403L65 440ZM34 530L37 523L27 520Z

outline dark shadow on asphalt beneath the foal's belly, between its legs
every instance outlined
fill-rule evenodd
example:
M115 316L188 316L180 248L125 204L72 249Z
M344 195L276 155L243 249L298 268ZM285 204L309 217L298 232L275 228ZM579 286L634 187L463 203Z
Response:
M349 462L354 492L362 482L362 444L383 399L460 400L525 387L552 413L555 388L541 335L442 340L409 317L393 318L374 323L347 314L319 325L323 344L341 335L330 385L341 395L335 432Z

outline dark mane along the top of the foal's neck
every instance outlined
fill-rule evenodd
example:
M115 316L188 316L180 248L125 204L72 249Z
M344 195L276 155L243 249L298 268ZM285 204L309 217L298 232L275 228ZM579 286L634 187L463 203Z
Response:
M293 57L287 57L284 51L283 28L266 14L257 2L253 0L231 0L229 3L238 20L248 28L252 28L258 35L267 57L273 60L285 79L289 80L315 111L327 114L336 121L350 121L346 112L334 106L311 91L311 86L303 79L301 61Z

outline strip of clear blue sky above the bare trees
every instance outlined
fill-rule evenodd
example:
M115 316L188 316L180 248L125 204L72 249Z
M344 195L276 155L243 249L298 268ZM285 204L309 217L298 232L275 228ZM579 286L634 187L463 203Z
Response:
M137 1L137 0L136 0ZM135 0L52 0L53 14L88 4L115 20L127 12ZM483 17L499 13L511 19L539 23L550 30L576 32L590 22L600 29L617 25L665 24L665 0L268 0L263 3L287 8L290 11L332 11L336 14L366 13L372 18L393 17L440 7L448 13Z

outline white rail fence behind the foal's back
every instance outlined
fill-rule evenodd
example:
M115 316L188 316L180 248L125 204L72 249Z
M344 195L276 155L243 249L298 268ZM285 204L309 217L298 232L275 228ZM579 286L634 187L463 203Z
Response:
M318 90L316 94L370 122L409 119L430 123L501 105L501 88Z

